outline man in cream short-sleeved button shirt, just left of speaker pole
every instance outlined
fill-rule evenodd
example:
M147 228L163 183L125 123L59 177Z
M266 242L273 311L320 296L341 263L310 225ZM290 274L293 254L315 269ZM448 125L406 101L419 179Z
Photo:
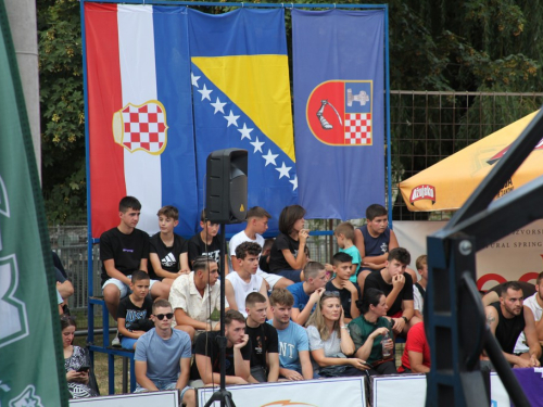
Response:
M203 331L219 330L220 280L217 262L199 256L189 275L179 276L172 284L169 302L174 308L173 325L193 341ZM228 303L226 303L228 308Z

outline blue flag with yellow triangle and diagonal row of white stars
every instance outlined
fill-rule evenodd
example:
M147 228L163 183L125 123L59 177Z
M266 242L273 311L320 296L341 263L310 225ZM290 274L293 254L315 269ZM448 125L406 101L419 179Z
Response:
M248 205L266 208L277 231L281 209L298 201L283 9L188 13L199 207L207 155L244 149Z

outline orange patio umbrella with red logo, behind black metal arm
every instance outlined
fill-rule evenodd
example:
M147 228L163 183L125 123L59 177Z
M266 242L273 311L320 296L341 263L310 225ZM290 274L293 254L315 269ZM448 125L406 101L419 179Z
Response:
M400 182L407 208L414 212L459 208L506 153L538 112L468 145L417 175ZM543 135L541 135L543 138ZM543 140L496 195L531 181L543 174Z

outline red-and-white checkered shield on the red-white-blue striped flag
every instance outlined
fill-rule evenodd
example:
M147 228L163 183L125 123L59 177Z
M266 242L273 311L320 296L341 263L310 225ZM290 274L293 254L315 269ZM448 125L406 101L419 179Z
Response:
M157 100L128 103L113 115L113 137L130 152L161 154L167 143L166 110Z

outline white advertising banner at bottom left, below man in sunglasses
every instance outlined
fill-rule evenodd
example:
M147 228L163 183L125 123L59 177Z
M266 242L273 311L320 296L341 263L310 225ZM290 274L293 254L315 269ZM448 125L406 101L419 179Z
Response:
M77 407L179 407L179 391L167 390L163 392L76 398L71 399L70 405Z

